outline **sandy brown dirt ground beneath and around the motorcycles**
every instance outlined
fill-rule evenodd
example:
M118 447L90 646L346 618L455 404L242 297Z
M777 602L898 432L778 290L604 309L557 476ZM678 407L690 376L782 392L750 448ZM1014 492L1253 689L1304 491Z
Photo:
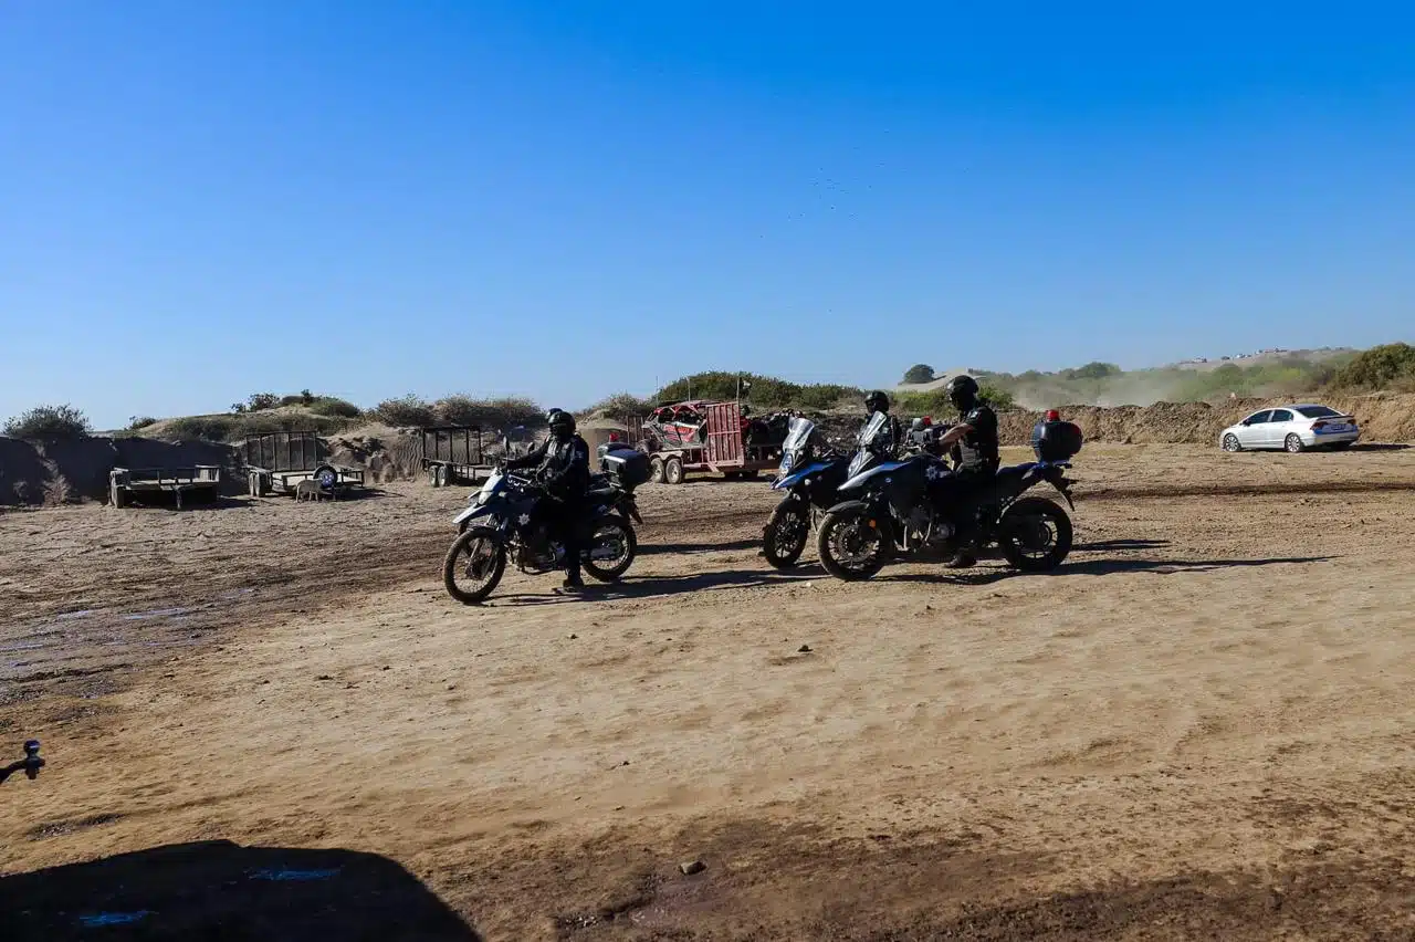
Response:
M3 513L6 938L1415 938L1415 450L1075 477L1047 576L700 482L483 607L466 489Z

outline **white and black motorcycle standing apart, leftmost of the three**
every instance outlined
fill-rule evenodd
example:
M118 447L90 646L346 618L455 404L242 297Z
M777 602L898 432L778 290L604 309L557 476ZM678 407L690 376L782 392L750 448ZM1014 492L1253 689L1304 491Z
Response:
M647 458L645 458L647 463ZM631 481L631 479L630 479ZM596 474L580 525L589 532L580 566L601 583L618 581L634 563L638 537L630 521L642 523L633 484L616 474ZM443 560L447 594L473 605L501 583L509 562L522 573L563 569L565 546L543 525L532 525L535 509L548 501L533 478L497 465L454 523L458 536Z

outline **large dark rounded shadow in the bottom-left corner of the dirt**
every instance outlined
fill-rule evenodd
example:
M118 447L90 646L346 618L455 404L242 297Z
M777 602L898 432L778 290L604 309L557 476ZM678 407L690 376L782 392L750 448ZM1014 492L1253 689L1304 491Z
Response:
M4 939L449 939L481 935L399 864L351 850L170 844L0 880Z

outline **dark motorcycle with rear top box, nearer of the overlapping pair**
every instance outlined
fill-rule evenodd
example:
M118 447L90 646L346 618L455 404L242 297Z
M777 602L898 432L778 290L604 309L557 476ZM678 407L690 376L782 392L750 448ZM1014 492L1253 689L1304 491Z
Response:
M976 545L998 546L1019 571L1060 566L1071 552L1071 518L1056 501L1026 492L1050 484L1074 512L1070 467L1068 458L1053 455L1000 468L992 481L976 485L981 492L971 495ZM852 475L839 487L842 502L816 529L821 564L836 578L855 581L870 578L896 557L957 553L957 529L928 496L930 484L952 474L947 463L924 451Z

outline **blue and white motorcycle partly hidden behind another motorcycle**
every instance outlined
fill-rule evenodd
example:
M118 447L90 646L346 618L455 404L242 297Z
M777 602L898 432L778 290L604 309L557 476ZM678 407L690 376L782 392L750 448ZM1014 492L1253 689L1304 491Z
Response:
M889 417L874 413L856 437L856 453L836 453L818 433L815 423L792 417L781 444L781 465L773 491L785 491L771 511L763 533L763 556L777 569L788 569L805 552L811 528L839 502L838 488L850 477L893 457Z

